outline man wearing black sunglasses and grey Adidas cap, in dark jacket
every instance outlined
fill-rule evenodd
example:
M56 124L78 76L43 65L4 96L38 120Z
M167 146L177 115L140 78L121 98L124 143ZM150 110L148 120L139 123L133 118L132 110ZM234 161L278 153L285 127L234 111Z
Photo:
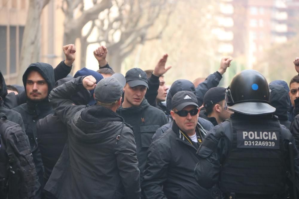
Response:
M173 125L148 149L141 183L143 195L151 199L210 199L211 191L199 186L193 176L199 161L196 151L205 136L199 130L196 96L191 91L180 91L171 102Z

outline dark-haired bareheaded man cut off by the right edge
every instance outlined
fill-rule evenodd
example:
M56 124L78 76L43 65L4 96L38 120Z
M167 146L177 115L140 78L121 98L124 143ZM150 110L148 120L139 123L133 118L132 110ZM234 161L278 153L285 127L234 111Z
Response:
M299 100L297 100L299 97L299 76L298 75L295 75L291 79L289 86L290 86L289 96L292 103L292 108L289 111L289 121L292 121L294 117L298 114L295 109L295 104L299 105Z

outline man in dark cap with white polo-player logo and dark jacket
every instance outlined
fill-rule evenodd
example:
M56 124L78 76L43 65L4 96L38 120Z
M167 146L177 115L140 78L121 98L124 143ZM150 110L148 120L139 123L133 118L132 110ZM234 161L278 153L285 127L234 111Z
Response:
M147 157L147 149L155 131L166 124L168 119L163 111L155 108L144 98L148 89L147 75L140 68L126 73L124 100L117 113L134 129L137 158L141 179Z

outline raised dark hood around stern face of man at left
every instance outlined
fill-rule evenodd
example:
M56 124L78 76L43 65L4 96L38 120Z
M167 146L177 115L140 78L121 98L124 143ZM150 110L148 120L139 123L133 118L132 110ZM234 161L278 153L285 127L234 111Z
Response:
M50 64L40 63L40 62L30 64L23 75L23 84L25 87L25 91L26 91L27 76L31 71L37 71L39 72L39 74L42 75L42 77L48 83L48 95L49 95L51 90L54 88L54 84L55 84L53 67Z

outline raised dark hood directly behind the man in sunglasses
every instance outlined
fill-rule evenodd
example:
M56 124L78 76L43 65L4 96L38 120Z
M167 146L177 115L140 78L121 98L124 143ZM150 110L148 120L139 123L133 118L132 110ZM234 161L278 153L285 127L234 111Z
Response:
M192 93L195 94L194 84L187 79L178 79L173 82L173 84L171 85L168 91L167 98L166 98L167 114L169 115L170 115L170 111L172 110L172 104L171 104L172 97L179 91L191 91Z

